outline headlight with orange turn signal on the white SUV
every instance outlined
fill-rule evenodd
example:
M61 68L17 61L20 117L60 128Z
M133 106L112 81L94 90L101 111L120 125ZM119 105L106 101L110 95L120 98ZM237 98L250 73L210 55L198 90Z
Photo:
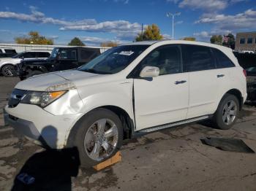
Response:
M56 99L60 98L65 93L67 93L67 90L55 92L29 91L29 93L25 95L25 97L20 101L20 103L37 105L44 108L53 101L56 101Z

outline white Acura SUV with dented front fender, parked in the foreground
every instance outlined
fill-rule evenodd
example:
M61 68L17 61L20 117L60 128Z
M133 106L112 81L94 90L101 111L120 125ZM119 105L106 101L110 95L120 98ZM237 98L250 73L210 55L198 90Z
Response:
M208 118L231 128L246 95L246 73L230 48L136 42L78 69L19 82L4 118L44 146L77 147L81 164L89 166L143 133Z

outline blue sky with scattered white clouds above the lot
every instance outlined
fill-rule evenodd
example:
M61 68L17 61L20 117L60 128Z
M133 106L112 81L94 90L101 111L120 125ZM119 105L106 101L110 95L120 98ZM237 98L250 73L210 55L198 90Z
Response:
M0 42L14 42L29 31L67 44L77 36L85 44L132 42L153 23L165 39L194 36L209 42L214 34L256 31L256 0L1 0Z

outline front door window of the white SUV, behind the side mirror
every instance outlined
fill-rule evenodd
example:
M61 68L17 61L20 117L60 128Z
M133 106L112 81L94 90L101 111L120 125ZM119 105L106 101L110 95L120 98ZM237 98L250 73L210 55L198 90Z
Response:
M137 71L141 71L146 66L158 67L159 75L180 73L181 52L179 47L175 45L158 47L140 62Z

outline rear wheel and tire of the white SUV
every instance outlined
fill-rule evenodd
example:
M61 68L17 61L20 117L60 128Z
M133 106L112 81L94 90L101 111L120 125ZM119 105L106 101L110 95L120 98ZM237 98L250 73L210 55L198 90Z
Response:
M239 109L238 98L229 93L225 94L219 102L219 106L213 117L215 128L222 130L232 128L238 118Z

